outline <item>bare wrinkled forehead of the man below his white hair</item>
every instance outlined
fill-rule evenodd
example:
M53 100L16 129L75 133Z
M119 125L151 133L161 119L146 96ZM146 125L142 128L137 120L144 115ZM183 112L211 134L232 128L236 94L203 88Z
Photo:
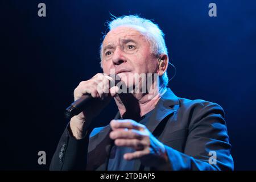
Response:
M134 39L137 42L145 42L146 37L136 28L120 26L108 32L104 38L103 46L106 46L107 44L114 44L122 39Z

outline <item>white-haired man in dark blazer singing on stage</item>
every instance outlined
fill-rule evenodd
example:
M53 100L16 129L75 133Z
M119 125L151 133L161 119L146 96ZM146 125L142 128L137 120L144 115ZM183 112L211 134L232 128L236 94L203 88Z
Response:
M80 82L74 96L101 99L71 118L51 170L233 169L222 108L176 97L167 88L167 48L156 24L132 15L114 19L100 54L105 74ZM106 75L113 69L127 88L143 85L143 79L137 83L126 79L135 73L154 73L159 82L153 81L147 92L120 93L118 86L108 86ZM90 129L111 98L119 110L115 119L108 126Z

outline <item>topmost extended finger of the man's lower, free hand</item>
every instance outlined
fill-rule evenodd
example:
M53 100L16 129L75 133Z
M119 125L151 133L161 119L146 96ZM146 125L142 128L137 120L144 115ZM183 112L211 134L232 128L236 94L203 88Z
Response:
M118 128L127 128L143 131L145 129L144 125L137 123L131 119L113 119L110 122L110 126L113 130Z

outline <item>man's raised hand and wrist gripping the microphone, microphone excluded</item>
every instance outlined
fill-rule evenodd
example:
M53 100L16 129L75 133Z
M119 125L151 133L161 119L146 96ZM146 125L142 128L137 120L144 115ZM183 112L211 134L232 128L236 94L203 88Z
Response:
M81 139L84 136L86 132L85 126L90 125L92 119L97 117L102 109L109 104L111 98L117 94L117 86L109 89L110 79L113 78L97 73L90 80L80 82L79 86L74 90L75 101L83 94L90 94L93 98L99 98L99 100L92 102L90 107L71 118L70 129L74 138Z

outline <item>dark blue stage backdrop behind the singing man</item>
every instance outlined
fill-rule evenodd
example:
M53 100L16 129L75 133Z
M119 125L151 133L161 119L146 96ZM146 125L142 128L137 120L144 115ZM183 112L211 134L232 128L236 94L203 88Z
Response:
M46 3L46 17L38 3ZM217 17L208 5L217 5ZM47 170L80 81L101 72L98 48L110 13L154 19L166 34L179 97L217 102L236 170L256 169L255 1L1 1L0 169ZM173 69L168 69L171 77ZM15 104L14 104L15 103ZM114 103L98 118L112 119ZM47 164L38 164L38 151Z

